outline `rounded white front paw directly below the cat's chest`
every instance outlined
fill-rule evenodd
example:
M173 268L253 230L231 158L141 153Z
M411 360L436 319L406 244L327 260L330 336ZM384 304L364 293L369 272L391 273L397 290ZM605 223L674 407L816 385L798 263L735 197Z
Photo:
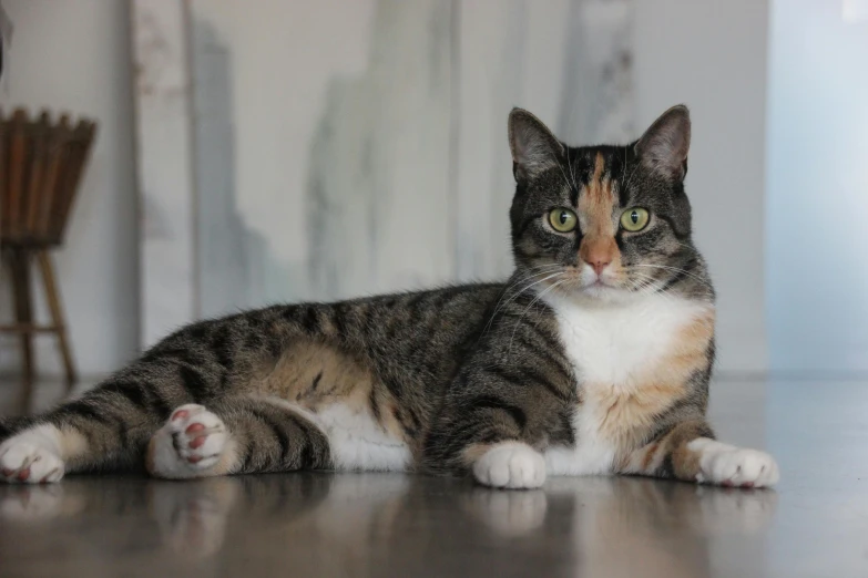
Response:
M545 458L528 444L503 442L476 461L473 477L491 487L540 487L545 482Z

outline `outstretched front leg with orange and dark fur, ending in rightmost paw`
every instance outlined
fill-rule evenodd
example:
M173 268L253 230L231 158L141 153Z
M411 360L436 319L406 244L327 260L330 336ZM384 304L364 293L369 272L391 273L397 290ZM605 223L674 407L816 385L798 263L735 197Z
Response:
M768 487L780 477L770 455L714 440L702 420L681 422L661 432L631 452L620 472L741 487Z

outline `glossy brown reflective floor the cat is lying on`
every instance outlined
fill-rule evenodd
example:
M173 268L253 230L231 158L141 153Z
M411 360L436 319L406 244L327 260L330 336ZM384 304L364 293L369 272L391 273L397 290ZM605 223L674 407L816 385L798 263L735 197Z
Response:
M0 576L868 576L868 384L721 382L777 491L378 474L0 486Z

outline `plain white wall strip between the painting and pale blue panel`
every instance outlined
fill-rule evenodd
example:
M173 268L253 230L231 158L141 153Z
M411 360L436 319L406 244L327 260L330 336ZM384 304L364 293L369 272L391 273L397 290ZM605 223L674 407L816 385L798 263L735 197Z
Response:
M823 0L818 0L823 1ZM686 188L718 292L718 369L766 368L763 309L766 0L636 0L640 126L693 117Z

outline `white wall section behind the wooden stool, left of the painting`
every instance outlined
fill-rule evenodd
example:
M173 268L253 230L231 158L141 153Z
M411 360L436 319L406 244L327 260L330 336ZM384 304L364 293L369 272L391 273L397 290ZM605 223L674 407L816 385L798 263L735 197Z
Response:
M80 371L105 373L134 354L139 334L127 6L119 0L3 0L3 8L14 35L0 106L47 106L99 122L55 262ZM0 283L4 319L10 300L8 285ZM39 312L44 316L44 308ZM60 373L52 341L39 338L43 374ZM16 370L17 341L4 337L0 355L0 371Z

